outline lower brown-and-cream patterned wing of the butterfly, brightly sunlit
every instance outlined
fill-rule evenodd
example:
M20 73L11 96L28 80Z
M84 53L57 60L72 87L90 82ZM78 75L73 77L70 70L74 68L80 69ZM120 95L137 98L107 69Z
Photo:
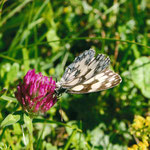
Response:
M105 69L94 77L79 83L68 89L68 93L83 94L106 90L112 88L121 82L118 74L109 69Z

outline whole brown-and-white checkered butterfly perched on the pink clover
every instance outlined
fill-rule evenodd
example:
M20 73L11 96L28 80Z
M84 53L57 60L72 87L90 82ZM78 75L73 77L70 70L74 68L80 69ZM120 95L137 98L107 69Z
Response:
M109 65L110 58L104 54L95 57L93 49L84 51L65 69L62 78L56 83L56 92L83 94L118 85L122 79L108 68Z

